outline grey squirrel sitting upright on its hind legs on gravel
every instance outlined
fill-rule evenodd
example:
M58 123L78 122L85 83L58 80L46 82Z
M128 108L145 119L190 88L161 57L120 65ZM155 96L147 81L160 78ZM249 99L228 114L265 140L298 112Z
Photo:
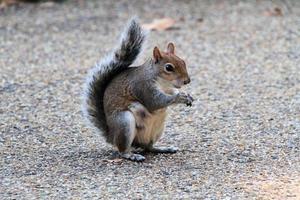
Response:
M174 147L154 147L164 130L167 107L192 105L193 98L177 88L190 83L185 62L169 43L166 52L157 47L141 66L131 66L141 52L145 33L136 19L122 34L121 42L107 58L91 69L85 87L83 111L120 156L132 161L145 157L131 152L141 147L155 153L175 153Z

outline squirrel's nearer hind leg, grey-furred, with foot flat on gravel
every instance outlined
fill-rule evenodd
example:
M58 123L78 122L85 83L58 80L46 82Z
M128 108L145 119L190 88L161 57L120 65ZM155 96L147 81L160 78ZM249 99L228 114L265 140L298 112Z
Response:
M129 111L115 114L114 120L108 120L109 130L114 135L114 144L120 156L131 161L143 161L145 157L131 152L131 145L135 137L135 118Z

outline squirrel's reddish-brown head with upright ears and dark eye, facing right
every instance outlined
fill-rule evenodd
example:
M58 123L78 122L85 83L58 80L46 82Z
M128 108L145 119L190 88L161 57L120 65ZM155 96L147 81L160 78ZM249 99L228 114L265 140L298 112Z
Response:
M169 43L166 52L155 47L153 49L155 67L158 69L159 78L167 81L175 88L180 88L191 82L185 62L175 55L175 46Z

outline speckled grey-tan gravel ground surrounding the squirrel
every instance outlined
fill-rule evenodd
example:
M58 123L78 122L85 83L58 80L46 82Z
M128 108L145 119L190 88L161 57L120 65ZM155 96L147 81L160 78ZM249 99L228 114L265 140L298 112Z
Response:
M84 123L87 70L136 14L177 45L194 106L176 106L161 145L115 159ZM1 199L300 199L298 1L67 1L0 11Z

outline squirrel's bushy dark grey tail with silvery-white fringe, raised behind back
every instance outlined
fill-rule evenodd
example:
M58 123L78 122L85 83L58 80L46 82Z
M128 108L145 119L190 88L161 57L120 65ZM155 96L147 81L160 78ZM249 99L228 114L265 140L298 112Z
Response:
M121 42L107 58L91 69L86 81L83 111L85 117L108 138L103 96L107 85L119 73L126 70L139 55L145 34L132 19L121 36Z

